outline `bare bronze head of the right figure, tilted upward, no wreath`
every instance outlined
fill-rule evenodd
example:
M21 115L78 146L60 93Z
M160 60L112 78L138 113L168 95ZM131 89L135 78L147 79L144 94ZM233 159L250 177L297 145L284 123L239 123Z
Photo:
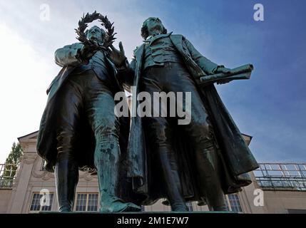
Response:
M149 17L143 22L143 26L141 27L141 36L146 39L148 36L155 33L166 34L167 29L165 29L160 19L157 17Z

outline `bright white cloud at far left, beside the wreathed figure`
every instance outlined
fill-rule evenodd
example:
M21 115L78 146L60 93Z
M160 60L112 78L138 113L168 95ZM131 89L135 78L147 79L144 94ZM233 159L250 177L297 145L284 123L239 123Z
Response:
M0 24L0 37L0 162L4 162L17 137L38 130L54 69L6 24Z

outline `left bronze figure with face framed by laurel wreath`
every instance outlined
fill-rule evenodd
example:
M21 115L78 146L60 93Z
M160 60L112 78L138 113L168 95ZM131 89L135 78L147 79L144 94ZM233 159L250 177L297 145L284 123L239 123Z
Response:
M89 16L101 18L96 12ZM37 151L46 170L55 171L60 212L73 209L78 169L96 170L101 212L139 211L125 178L129 117L117 118L113 111L113 95L124 90L108 49L95 48L109 34L93 26L85 35L93 45L73 43L55 52L62 69L47 91Z

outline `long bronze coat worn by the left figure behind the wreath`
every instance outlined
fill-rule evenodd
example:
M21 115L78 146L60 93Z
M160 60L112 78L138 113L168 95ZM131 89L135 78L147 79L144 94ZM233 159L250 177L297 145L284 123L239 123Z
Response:
M79 66L80 63L76 59L76 52L79 48L82 48L82 43L73 43L68 46L60 48L55 53L55 61L58 65L63 68L58 73L58 76L53 79L51 85L47 90L48 100L46 103L46 108L44 114L41 118L41 124L39 128L39 135L37 139L37 152L41 157L46 160L46 170L53 172L54 165L56 164L56 123L55 119L58 118L57 110L57 100L61 99L61 93L58 91L65 85L67 78L71 75L71 72ZM59 59L65 59L66 65L62 65ZM117 80L116 67L113 65L109 58L106 58L106 64L110 69L111 77L113 79L113 93L124 91L122 83ZM80 113L81 115L81 113ZM115 115L115 114L114 114ZM128 134L129 134L129 122L130 118L122 117L121 122L121 135L119 138L121 145L121 152L126 153L126 147L128 144ZM79 138L79 145L76 145L76 155L78 159L78 166L81 170L86 170L87 168L94 170L93 164L93 154L95 149L95 138L91 127L88 124L86 118L82 118L80 123L80 130L76 133Z

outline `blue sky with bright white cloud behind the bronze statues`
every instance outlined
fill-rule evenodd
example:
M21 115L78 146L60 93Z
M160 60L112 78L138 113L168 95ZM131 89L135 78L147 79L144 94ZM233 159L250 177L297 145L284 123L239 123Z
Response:
M254 21L253 6L265 7ZM50 21L41 21L49 4ZM56 48L76 42L83 12L97 10L115 21L126 56L140 45L140 28L158 16L168 31L182 33L204 56L230 68L253 63L249 81L217 86L259 162L306 162L306 1L1 1L0 162L12 142L39 128L45 90L60 70Z

